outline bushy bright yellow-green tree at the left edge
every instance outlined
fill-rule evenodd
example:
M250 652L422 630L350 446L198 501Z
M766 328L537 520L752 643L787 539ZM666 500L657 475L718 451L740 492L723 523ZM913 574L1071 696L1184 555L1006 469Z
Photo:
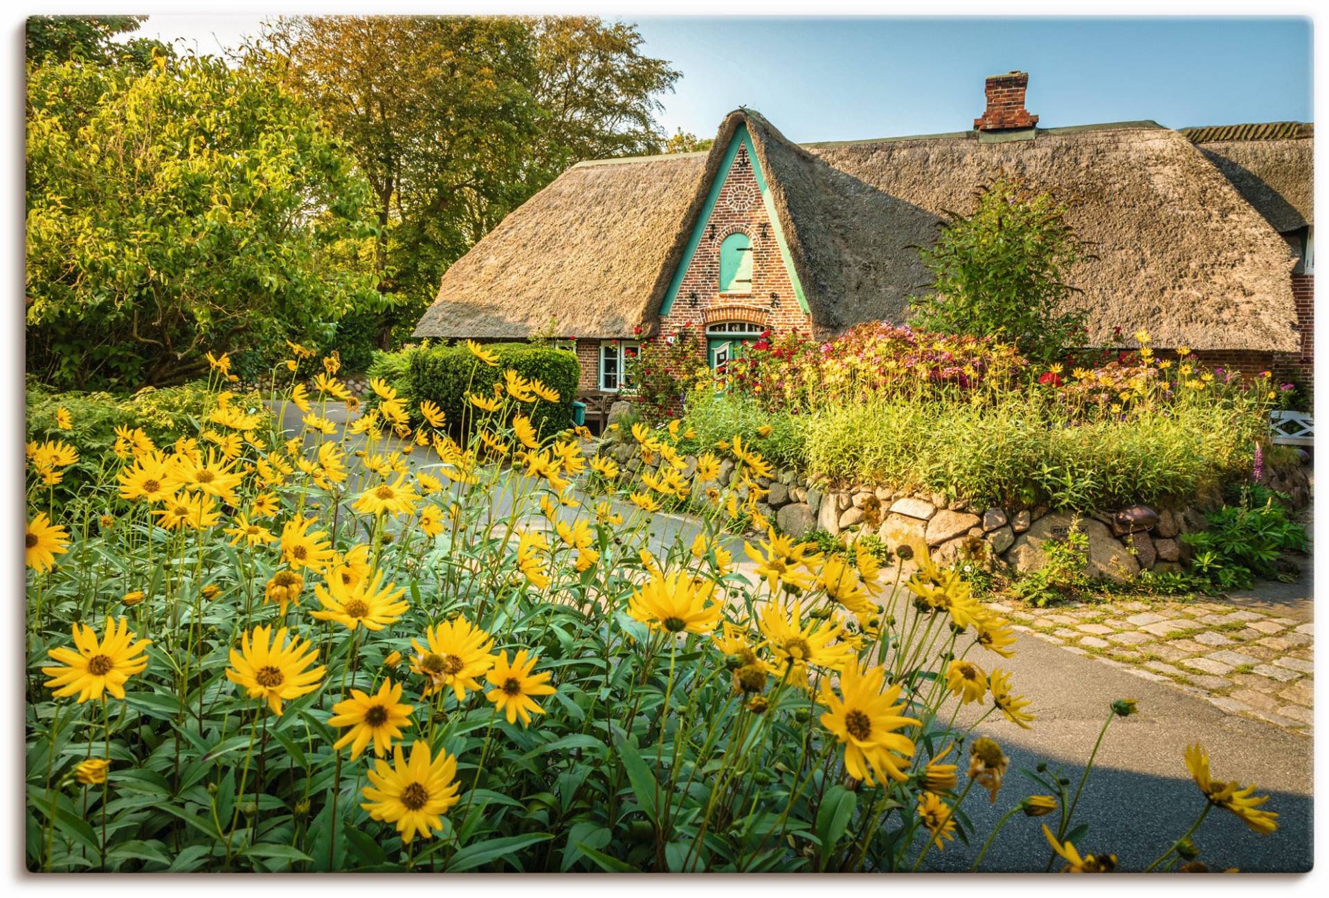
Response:
M29 68L29 371L169 384L379 303L368 187L279 81L211 57ZM243 359L242 359L243 361Z

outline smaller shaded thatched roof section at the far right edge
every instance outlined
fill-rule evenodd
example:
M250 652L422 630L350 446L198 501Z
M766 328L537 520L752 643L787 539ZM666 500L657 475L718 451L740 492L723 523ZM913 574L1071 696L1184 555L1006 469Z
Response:
M1183 128L1273 230L1314 223L1314 125L1263 122Z

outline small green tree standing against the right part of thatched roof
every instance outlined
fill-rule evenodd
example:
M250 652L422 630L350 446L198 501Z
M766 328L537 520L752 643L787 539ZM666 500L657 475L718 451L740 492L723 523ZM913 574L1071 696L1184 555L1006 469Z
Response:
M1083 345L1082 311L1067 308L1067 283L1084 244L1053 191L999 175L979 187L971 215L949 213L937 242L921 250L933 292L910 303L910 323L944 333L995 336L1033 361Z

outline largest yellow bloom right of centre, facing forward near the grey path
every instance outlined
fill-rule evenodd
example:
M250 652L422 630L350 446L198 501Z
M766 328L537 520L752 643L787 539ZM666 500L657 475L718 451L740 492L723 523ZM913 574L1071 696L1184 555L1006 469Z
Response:
M851 666L840 676L840 695L829 683L821 684L821 704L828 711L821 715L821 725L844 744L844 766L856 780L876 785L872 774L904 782L904 768L913 757L914 744L897 729L918 725L913 717L904 717L905 703L900 701L900 684L885 687L884 667L860 670ZM898 703L898 704L897 704Z

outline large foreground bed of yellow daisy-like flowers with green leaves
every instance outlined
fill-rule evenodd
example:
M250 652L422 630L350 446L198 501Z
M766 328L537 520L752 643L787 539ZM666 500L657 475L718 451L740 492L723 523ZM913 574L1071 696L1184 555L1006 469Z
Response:
M1002 801L1009 760L942 721L981 703L1037 727L1002 670L1014 635L964 578L773 531L739 577L723 535L762 519L773 473L742 436L688 464L679 422L637 425L621 482L585 433L532 425L554 391L472 352L501 387L468 400L465 444L428 405L407 425L377 379L377 408L334 424L328 364L286 388L295 436L211 393L219 452L144 434L73 497L43 484L73 449L32 454L31 869L916 870L1003 825L1058 867L1118 865L1082 850L1078 772L1030 770L1046 794L990 832L964 814ZM651 542L684 497L702 533ZM1203 749L1185 765L1196 825L1277 828Z

